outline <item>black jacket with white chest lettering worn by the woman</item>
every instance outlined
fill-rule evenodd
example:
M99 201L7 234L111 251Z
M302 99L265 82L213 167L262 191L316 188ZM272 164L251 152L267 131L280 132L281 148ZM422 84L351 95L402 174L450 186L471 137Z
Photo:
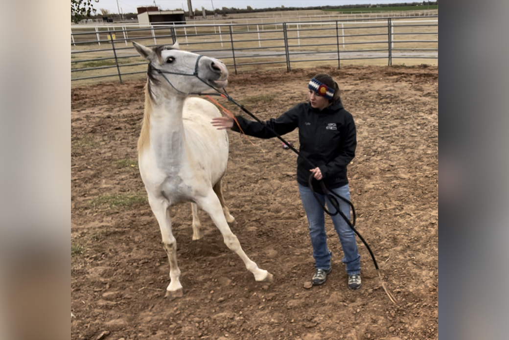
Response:
M258 123L236 116L242 131L258 138L272 138L299 128L299 153L316 164L322 172L323 181L330 188L348 184L347 165L355 157L357 136L353 117L345 110L341 101L332 103L322 111L307 103L294 106L276 119ZM237 124L233 131L240 132ZM312 165L302 156L297 158L297 182L308 186ZM318 181L313 180L313 188L322 192Z

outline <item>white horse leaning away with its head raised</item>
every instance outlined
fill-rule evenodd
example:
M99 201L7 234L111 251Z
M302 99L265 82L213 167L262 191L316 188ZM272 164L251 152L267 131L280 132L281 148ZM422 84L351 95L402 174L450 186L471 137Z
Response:
M247 257L227 222L234 220L221 192L228 162L228 135L211 124L220 112L205 99L189 97L212 87L225 87L227 68L217 59L179 50L178 43L154 48L135 42L133 45L149 61L138 165L168 255L170 282L166 297L183 295L169 214L172 205L183 201L192 202L193 240L203 236L196 214L200 206L254 278L270 282L272 274Z

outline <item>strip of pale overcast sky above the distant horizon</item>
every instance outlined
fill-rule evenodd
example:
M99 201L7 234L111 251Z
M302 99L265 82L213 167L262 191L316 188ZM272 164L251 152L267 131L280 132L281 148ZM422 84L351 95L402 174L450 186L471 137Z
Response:
M163 10L175 10L183 8L187 11L187 0L118 0L118 6L122 13L136 13L138 6L154 5L154 1L159 8ZM315 6L340 6L351 4L395 4L412 2L412 0L191 0L193 9L207 10L221 9L222 7L235 8L275 8L275 7L315 7ZM415 0L417 2L417 0ZM97 13L100 14L101 8L108 10L110 13L119 13L117 0L99 0L93 3Z

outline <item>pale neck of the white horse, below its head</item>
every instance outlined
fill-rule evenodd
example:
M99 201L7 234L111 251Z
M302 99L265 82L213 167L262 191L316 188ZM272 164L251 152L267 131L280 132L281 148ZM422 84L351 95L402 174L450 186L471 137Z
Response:
M163 94L158 90L146 87L145 114L138 151L150 146L160 157L172 155L172 158L180 158L185 145L182 110L186 97Z

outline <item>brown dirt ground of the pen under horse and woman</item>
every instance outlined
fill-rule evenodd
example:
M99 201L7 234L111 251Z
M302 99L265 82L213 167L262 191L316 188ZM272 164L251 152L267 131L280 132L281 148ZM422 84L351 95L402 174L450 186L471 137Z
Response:
M184 296L165 299L169 264L136 163L145 82L104 82L71 90L71 339L438 338L438 69L250 72L231 75L229 93L269 119L305 100L321 72L338 81L356 122L356 225L398 305L360 240L362 287L347 288L330 218L332 273L304 287L314 261L296 156L277 139L252 146L231 131L223 191L232 231L274 281L254 281L203 211L205 237L192 241L190 204L181 204L172 221ZM286 138L298 146L296 131Z

